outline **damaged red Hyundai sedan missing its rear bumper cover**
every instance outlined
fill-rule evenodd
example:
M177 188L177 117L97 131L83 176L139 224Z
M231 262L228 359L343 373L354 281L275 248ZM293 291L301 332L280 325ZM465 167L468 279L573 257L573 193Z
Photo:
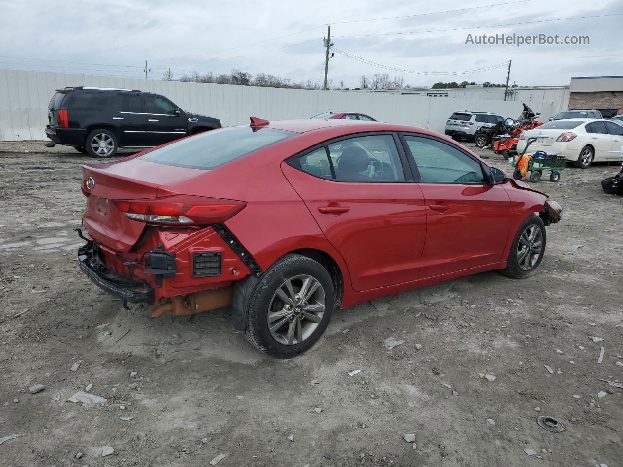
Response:
M232 306L292 357L335 308L458 276L535 271L562 208L432 131L252 118L82 166L80 267L152 316Z

